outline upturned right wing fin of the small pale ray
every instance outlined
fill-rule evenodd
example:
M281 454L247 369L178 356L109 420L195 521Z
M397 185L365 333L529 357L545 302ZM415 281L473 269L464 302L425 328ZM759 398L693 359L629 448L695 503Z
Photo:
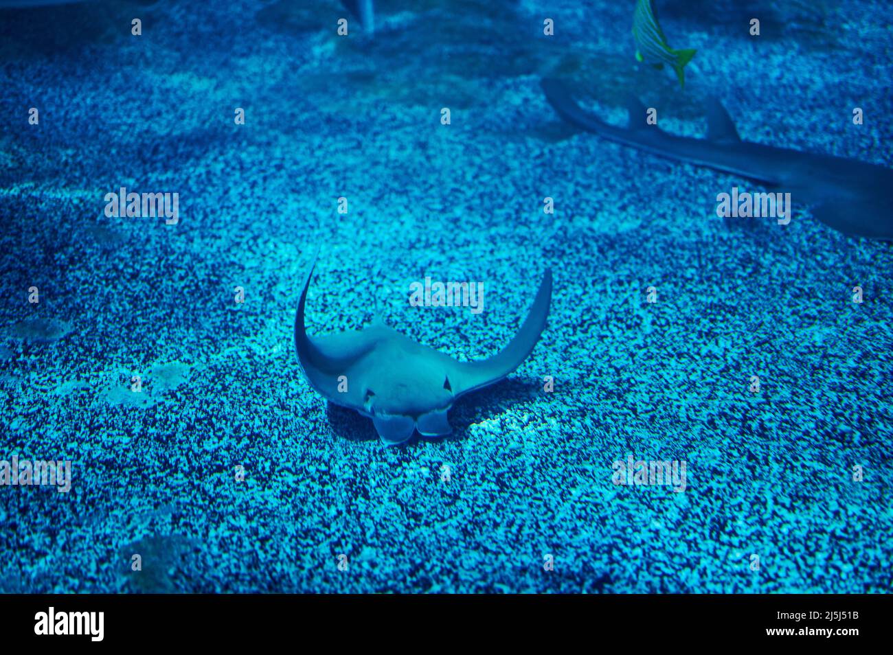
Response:
M530 308L527 318L524 319L521 329L505 348L492 357L483 361L463 362L461 389L455 390L456 395L464 394L481 386L491 385L521 366L546 327L551 302L552 270L547 269L543 281L539 284L537 297L533 301L533 306Z

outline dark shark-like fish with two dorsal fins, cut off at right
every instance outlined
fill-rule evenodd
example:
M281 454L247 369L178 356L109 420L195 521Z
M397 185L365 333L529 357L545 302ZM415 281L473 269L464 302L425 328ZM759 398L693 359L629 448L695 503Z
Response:
M847 234L893 240L893 170L876 164L742 141L729 113L712 99L707 138L677 137L646 122L646 108L630 98L630 122L618 128L584 111L556 79L540 82L549 104L572 125L624 145L689 162L789 192L811 205L814 217Z

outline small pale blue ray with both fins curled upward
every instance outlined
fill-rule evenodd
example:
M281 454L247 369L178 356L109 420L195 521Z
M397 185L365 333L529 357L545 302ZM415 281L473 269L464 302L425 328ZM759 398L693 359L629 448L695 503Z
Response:
M295 315L297 361L307 381L324 398L372 419L381 441L402 444L415 430L427 437L452 432L447 411L455 399L492 385L527 359L546 327L552 299L552 271L546 270L527 319L505 348L481 361L456 361L380 320L358 332L308 336L304 281Z

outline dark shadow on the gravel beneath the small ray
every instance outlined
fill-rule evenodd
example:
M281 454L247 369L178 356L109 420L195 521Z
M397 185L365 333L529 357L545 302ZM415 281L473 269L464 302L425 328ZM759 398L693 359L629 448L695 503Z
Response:
M534 396L541 394L542 386L539 382L530 379L506 378L486 390L480 390L463 396L455 402L449 410L449 423L453 427L453 434L441 437L426 438L416 432L410 439L400 444L417 444L419 441L443 441L463 439L468 435L468 428L481 419L489 419L505 411L522 401L529 401ZM336 405L334 402L326 403L326 418L332 431L347 441L363 442L377 441L379 439L371 419L364 417L355 410Z

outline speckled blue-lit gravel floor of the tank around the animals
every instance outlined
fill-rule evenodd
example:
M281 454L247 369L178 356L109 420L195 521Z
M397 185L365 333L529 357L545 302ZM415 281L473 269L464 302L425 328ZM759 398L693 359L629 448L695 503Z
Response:
M747 141L890 167L889 5L658 0L683 90L634 4L380 2L374 35L334 0L0 8L0 592L889 592L889 244L796 198L722 220L764 187L539 86L689 137L714 96ZM547 327L452 435L385 446L296 361L317 250L311 335L483 359L552 269ZM426 277L483 311L413 306Z

